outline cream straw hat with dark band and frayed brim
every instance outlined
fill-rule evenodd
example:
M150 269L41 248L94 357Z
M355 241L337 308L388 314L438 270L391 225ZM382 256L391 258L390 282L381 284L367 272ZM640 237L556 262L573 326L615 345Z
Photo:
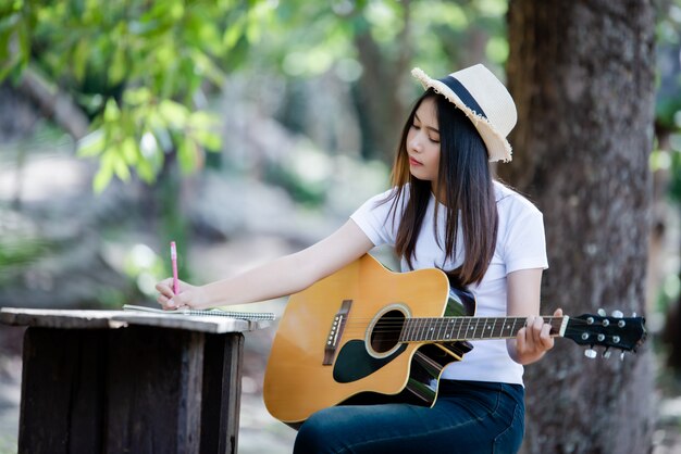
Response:
M466 113L487 146L490 162L509 162L511 146L506 136L516 126L516 104L504 84L482 64L433 79L414 67L411 75L433 88Z

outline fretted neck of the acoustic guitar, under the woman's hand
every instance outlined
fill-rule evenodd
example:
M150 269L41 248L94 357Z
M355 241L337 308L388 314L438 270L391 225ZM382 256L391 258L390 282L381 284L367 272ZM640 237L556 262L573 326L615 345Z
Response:
M552 336L564 336L569 317L544 317ZM512 339L527 317L418 317L405 320L400 342Z

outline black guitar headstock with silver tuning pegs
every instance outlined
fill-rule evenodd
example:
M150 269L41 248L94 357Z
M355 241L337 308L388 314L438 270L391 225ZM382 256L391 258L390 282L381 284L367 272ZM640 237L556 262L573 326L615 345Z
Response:
M612 316L606 316L605 311L599 310L598 314L583 314L579 317L570 317L564 337L572 339L580 345L589 345L585 355L595 357L595 345L606 348L606 357L609 356L608 349L619 349L623 352L636 351L643 344L646 337L645 318L623 317L622 313L616 311Z

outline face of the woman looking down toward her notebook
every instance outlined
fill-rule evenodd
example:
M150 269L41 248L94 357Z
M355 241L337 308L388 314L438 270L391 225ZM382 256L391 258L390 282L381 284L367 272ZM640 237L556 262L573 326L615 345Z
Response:
M409 171L414 177L431 181L437 180L439 167L439 128L435 100L426 98L421 102L407 134Z

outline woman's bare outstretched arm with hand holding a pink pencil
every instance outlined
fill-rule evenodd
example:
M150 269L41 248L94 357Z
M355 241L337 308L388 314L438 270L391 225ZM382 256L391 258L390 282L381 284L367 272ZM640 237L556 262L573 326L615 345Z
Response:
M206 308L285 297L335 273L372 248L369 237L350 219L320 242L235 277L206 286L181 282L178 294L172 291L172 279L165 279L156 286L160 293L157 301L163 308Z

